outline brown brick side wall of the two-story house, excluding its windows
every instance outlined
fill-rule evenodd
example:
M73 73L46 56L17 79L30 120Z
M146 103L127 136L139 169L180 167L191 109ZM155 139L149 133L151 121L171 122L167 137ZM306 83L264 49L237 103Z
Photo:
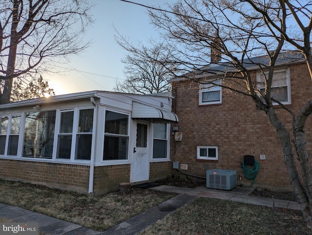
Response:
M255 72L253 73L255 76ZM265 113L257 109L251 98L222 89L222 104L198 105L198 84L191 81L175 82L173 85L173 112L179 118L176 125L183 133L181 142L171 136L171 160L188 164L186 172L206 175L206 170L236 170L245 180L240 164L244 155L254 155L260 164L255 185L283 187L290 185L278 136ZM305 64L291 67L292 105L295 113L311 99L311 78ZM291 132L291 115L283 108L276 108L277 115ZM288 124L287 124L288 123ZM312 121L307 122L308 148L312 150ZM197 146L218 146L219 158L197 160ZM265 154L266 160L259 155ZM239 181L238 181L239 184Z

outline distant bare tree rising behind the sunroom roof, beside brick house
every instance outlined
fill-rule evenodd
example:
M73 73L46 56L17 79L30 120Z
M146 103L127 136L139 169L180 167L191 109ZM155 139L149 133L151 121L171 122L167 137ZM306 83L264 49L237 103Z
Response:
M152 94L171 90L167 80L175 71L175 64L171 63L172 55L164 43L144 46L142 43L133 45L120 34L115 36L116 42L128 54L121 62L125 64L126 80L116 81L114 90L135 94Z

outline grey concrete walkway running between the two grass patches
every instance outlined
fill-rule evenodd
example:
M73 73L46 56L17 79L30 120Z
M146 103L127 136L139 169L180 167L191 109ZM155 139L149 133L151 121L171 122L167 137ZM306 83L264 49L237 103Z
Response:
M204 187L189 189L161 185L150 188L150 190L175 192L178 195L104 232L93 231L78 224L1 203L0 217L16 222L37 222L39 223L39 231L47 235L135 235L167 214L171 214L185 204L193 202L198 197L210 197L259 206L300 210L300 205L297 202L249 196L248 194L252 192L252 188L236 187L232 191L220 191Z

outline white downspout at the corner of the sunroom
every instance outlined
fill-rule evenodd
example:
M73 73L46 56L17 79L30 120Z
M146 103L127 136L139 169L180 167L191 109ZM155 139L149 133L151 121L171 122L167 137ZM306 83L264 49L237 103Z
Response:
M94 100L94 97L90 97L90 102L94 106L95 117L93 119L93 129L92 129L92 145L91 149L91 159L90 159L90 172L89 172L89 193L93 192L93 181L94 181L94 161L95 161L95 146L96 146L96 137L97 137L97 126L98 126L98 106Z

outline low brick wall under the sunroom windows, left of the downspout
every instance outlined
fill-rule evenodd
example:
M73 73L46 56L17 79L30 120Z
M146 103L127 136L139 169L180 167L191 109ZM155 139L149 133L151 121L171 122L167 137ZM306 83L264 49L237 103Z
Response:
M0 178L88 193L89 166L0 159Z

